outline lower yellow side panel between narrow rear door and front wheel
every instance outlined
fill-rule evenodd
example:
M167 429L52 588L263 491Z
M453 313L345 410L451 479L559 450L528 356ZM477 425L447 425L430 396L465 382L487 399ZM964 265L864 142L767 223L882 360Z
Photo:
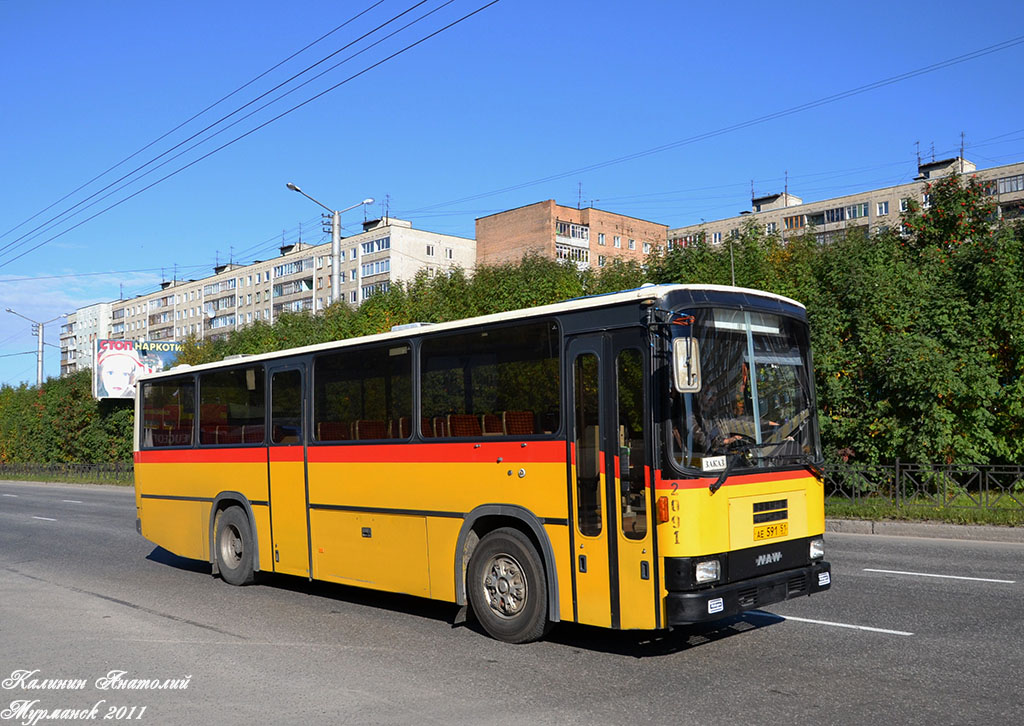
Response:
M309 519L314 578L430 597L424 517L314 509Z

